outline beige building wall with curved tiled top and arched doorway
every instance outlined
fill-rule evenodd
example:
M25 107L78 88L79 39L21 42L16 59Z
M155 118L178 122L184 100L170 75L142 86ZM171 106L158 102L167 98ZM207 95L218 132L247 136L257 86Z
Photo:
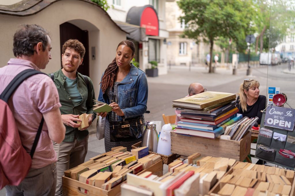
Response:
M38 24L50 32L52 59L43 72L52 73L61 67L61 46L68 39L78 39L86 53L78 72L93 81L98 96L101 75L116 55L126 34L97 4L89 0L19 1L0 5L0 67L14 58L13 35L21 24Z

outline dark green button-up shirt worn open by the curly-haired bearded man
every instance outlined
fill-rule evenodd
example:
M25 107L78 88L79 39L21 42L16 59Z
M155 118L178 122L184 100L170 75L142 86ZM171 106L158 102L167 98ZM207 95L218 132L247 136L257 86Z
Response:
M54 84L59 94L61 114L93 114L94 120L96 117L96 112L93 111L92 106L95 104L93 101L93 99L95 99L95 94L91 79L88 77L89 89L87 89L87 84L84 80L83 75L77 72L77 87L82 97L81 103L79 103L77 106L74 106L70 94L65 89L65 80L66 77L61 69L54 73ZM65 139L63 140L64 142L73 142L75 135L78 141L80 141L89 134L88 130L79 131L78 128L73 128L67 125L65 125L65 127L66 130Z

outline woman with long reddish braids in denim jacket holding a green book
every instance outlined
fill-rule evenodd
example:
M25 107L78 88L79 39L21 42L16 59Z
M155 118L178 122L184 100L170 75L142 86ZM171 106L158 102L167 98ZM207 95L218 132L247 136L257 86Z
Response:
M113 107L106 117L104 145L106 152L112 147L131 146L142 140L143 114L147 110L148 82L145 73L132 64L135 45L121 41L116 57L104 71L98 100Z

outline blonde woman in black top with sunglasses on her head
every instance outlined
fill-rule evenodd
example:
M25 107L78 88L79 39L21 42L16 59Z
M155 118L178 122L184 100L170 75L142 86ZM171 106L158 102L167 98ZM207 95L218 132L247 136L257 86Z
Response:
M240 95L237 97L239 114L243 117L258 117L257 123L261 123L262 112L266 107L266 97L259 95L259 82L254 79L245 79L240 85Z

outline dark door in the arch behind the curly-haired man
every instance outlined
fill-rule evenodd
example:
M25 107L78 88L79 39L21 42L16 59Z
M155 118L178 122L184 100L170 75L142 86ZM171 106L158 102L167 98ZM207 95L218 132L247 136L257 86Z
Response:
M88 31L82 30L79 27L65 22L59 26L60 29L60 54L62 54L62 47L68 39L78 39L84 45L86 52L82 64L78 68L78 72L89 76L89 46L88 46ZM60 58L61 59L61 58ZM61 66L63 66L61 64Z

